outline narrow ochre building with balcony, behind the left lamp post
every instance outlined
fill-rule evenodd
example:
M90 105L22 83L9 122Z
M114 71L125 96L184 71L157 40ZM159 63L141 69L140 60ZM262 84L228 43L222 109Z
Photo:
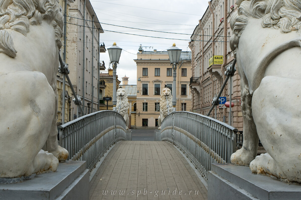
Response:
M116 75L116 90L120 81ZM113 69L101 71L99 74L99 110L107 110L107 101L103 97L111 97L113 100ZM113 101L108 101L108 110L113 110Z

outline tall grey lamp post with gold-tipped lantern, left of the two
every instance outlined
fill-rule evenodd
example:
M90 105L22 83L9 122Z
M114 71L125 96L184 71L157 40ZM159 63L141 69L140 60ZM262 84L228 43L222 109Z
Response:
M116 97L116 67L117 64L119 64L119 58L121 54L121 48L116 45L116 42L113 43L113 46L108 48L109 56L110 56L110 62L113 64L113 111L116 111L116 103L117 103L117 97Z

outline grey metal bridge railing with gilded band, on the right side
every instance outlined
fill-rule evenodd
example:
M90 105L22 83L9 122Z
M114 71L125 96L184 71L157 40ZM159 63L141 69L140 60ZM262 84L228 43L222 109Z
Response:
M211 163L231 163L237 129L193 112L173 112L161 124L161 140L177 145L207 179Z

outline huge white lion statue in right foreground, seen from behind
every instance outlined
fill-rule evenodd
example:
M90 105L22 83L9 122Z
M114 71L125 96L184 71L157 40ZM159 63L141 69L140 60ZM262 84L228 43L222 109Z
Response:
M237 5L230 44L240 75L244 142L231 162L301 183L301 2ZM256 157L258 139L267 153Z

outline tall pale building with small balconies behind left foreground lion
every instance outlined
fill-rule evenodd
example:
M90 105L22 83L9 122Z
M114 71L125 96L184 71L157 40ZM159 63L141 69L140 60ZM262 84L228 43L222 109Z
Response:
M67 18L66 63L69 64L72 85L82 98L81 107L85 113L81 113L73 102L72 106L77 111L75 115L79 113L82 116L99 109L99 70L105 70L100 53L106 52L99 37L104 31L89 0L70 4ZM75 115L74 118L79 117Z

